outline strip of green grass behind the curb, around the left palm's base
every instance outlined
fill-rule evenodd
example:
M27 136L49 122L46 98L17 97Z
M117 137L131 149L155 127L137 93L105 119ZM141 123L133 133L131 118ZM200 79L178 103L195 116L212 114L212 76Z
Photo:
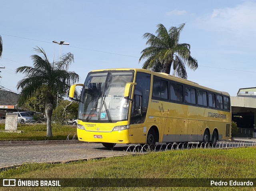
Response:
M4 130L4 126L5 124L0 124L0 130ZM66 140L69 134L70 139L76 134L76 127L60 124L52 124L53 137L46 136L46 124L18 124L18 130L24 133L0 132L0 141Z

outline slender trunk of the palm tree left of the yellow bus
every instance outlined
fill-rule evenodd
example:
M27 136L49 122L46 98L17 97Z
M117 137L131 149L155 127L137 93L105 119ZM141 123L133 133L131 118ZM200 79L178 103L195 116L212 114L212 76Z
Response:
M52 94L48 92L46 95L46 100L45 100L45 114L46 114L46 118L47 118L46 136L48 136L48 137L52 137L51 120L52 120L53 100L54 100L54 98L53 98Z

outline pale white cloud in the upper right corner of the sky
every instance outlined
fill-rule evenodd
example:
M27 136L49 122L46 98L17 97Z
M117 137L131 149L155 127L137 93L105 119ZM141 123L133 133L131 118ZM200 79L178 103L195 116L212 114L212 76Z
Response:
M225 31L237 36L255 35L256 3L246 2L233 8L214 9L204 18L198 18L200 25L211 30Z

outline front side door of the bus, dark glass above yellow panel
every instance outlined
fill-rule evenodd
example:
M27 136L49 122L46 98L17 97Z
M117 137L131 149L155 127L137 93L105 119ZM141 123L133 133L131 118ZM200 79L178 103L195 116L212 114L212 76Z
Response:
M142 130L142 91L134 89L132 109L130 114L130 134L131 143L144 143Z

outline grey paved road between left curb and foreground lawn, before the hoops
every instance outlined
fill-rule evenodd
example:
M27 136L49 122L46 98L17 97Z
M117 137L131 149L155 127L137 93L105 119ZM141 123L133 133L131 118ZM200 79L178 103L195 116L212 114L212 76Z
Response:
M124 155L127 145L115 146L114 150L102 144L52 144L26 146L0 146L0 168L22 163L70 161L106 156ZM125 150L125 151L124 151Z

